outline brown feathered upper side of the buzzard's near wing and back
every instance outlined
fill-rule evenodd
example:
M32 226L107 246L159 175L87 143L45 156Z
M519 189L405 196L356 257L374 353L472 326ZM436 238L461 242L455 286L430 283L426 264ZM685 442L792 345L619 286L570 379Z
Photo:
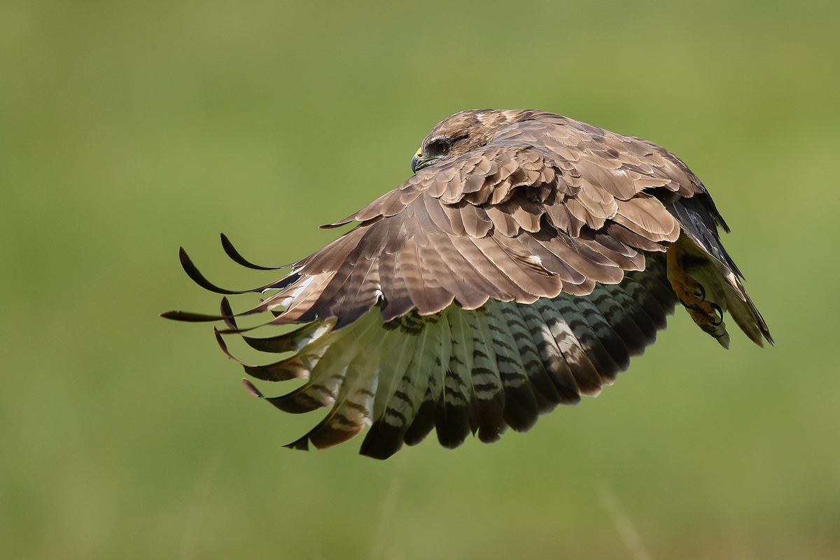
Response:
M702 186L655 144L591 128L600 135L519 123L420 170L330 224L361 222L293 264L288 285L260 309L282 309L276 323L337 317L341 327L377 302L387 322L452 301L475 309L488 298L532 302L617 284L624 270L643 269L641 251L679 237L663 193Z

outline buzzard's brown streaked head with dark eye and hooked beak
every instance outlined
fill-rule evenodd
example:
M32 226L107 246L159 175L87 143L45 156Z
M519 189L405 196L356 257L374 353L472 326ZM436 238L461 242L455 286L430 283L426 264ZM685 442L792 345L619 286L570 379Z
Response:
M455 113L435 125L412 157L412 171L422 170L443 160L456 158L480 148L499 128L517 120L522 111L470 109Z

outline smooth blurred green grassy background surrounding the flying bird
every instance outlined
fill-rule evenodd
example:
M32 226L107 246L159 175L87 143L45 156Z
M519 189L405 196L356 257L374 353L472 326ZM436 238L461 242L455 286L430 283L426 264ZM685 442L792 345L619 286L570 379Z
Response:
M840 557L836 0L0 13L0 556ZM735 332L724 351L678 310L616 385L528 434L386 462L360 440L281 448L318 418L242 390L207 325L158 317L218 306L178 246L220 285L269 281L218 233L302 258L473 107L680 155L775 348Z

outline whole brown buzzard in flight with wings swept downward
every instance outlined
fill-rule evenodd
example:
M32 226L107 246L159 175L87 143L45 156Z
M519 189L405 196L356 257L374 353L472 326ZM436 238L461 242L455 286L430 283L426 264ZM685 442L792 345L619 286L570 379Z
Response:
M674 154L540 111L470 110L432 128L414 175L339 222L358 224L280 280L223 290L181 249L192 280L230 295L270 292L220 316L251 347L287 356L243 364L265 381L305 379L266 398L282 411L329 409L286 447L328 447L370 426L360 453L387 458L436 429L444 447L496 441L540 414L597 395L654 343L677 303L724 348L732 320L773 343L723 248L728 232L701 181ZM222 235L239 264L251 264ZM299 325L246 335L236 317ZM291 353L291 355L289 355ZM228 356L233 356L228 353ZM241 362L240 362L241 363Z

